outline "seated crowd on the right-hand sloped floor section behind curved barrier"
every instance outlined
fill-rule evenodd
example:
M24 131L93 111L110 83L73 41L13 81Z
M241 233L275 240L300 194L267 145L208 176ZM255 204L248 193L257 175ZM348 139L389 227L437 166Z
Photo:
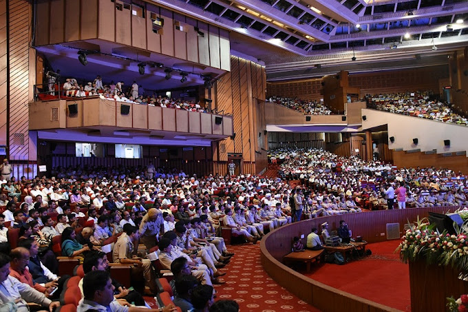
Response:
M467 177L443 168L401 168L321 149L277 149L279 175L306 186L312 216L361 209L468 205ZM345 210L343 210L345 209ZM315 213L315 214L314 214Z

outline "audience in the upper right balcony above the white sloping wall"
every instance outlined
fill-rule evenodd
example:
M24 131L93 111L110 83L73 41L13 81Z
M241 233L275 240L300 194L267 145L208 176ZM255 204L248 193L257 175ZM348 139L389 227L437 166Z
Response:
M368 107L445 123L467 125L466 116L454 112L452 105L434 98L432 92L367 94Z

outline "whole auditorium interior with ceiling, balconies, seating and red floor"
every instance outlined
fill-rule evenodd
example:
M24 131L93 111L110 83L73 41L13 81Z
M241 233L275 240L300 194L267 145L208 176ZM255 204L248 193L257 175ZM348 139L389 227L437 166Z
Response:
M453 231L430 213L468 219L466 138L467 0L0 0L0 249L12 250L12 267L24 249L17 246L28 245L20 244L23 227L41 221L32 209L57 225L66 217L77 237L83 228L98 235L105 219L107 243L89 242L101 251L134 237L110 224L142 211L134 256L143 258L166 253L156 244L165 246L162 222L173 214L170 231L192 220L208 246L195 242L196 250L216 249L206 251L214 262L196 258L218 272L215 304L194 311L237 311L217 308L226 300L240 311L445 311L447 298L468 293L468 265L407 260L402 236L425 227L421 220ZM73 201L75 191L82 201ZM117 195L122 209L107 205ZM23 207L20 222L14 211ZM213 207L209 225L222 239L206 241L195 229L200 207ZM252 225L238 225L237 207L247 221L255 215ZM153 245L142 242L150 212L161 222ZM338 266L326 261L321 231L327 223L338 237L341 220L356 242ZM308 245L314 228L323 252L291 253L292 238ZM52 236L47 261L57 278L72 277L56 300L36 280L33 288L50 307L58 301L56 311L85 311L76 289L92 251L65 255L63 236ZM372 255L355 248L361 240ZM115 253L107 251L109 262ZM169 309L175 274L162 262L151 262L158 291L143 287L146 307L191 311ZM136 264L109 267L127 289L147 277Z

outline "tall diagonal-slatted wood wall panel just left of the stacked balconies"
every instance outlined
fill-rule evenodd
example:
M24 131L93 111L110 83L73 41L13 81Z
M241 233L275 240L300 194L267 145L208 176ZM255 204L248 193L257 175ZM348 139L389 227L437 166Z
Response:
M8 39L10 43L9 154L12 160L28 160L30 145L28 102L32 101L32 84L35 81L34 51L29 46L32 6L24 0L10 0L8 4L10 14L8 21L10 24Z

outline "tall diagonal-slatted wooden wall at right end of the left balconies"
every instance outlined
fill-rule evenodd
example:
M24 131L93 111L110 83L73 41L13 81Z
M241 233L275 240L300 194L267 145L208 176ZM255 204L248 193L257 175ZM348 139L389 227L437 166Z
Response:
M229 153L242 154L242 174L257 174L266 167L264 77L264 67L231 56L231 72L217 81L216 107L218 111L233 115L235 138L227 138L214 145L214 172L227 172Z

